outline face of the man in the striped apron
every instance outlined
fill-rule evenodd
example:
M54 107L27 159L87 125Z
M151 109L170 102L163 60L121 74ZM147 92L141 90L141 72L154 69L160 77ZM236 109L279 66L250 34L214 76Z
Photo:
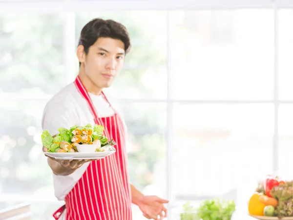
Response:
M86 76L99 88L109 87L124 65L125 46L121 40L99 38L84 59Z

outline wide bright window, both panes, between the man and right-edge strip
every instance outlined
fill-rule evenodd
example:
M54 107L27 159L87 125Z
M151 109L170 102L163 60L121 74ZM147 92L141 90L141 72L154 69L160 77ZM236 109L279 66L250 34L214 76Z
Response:
M170 26L174 198L222 195L271 173L273 11L176 11Z

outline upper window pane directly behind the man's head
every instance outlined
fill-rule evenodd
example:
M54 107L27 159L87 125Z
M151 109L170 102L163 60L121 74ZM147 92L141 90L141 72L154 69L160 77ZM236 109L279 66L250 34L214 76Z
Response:
M112 19L126 26L132 47L124 69L111 87L119 98L166 98L165 12L82 12L76 15L77 41L84 25L94 18ZM78 66L78 65L77 65ZM78 68L78 67L77 67Z

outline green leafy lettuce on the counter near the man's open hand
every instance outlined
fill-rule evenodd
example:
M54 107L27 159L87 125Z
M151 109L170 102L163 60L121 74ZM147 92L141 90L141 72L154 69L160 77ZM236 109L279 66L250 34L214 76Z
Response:
M234 200L220 200L214 198L204 200L198 208L194 208L190 203L186 203L180 220L231 220L234 213Z

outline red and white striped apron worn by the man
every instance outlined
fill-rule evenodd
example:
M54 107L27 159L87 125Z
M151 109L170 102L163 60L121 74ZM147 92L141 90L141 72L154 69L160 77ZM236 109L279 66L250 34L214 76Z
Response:
M80 78L74 83L87 101L95 123L103 125L104 135L117 143L116 153L90 162L82 178L65 197L65 205L53 217L59 219L66 208L66 220L132 220L123 122L115 109L113 116L99 118Z

